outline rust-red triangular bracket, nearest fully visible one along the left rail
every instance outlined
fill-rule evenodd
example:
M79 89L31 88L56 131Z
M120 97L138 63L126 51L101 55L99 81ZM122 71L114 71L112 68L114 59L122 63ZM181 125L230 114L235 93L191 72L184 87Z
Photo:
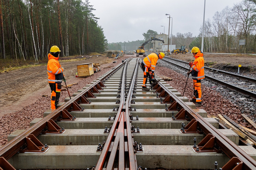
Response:
M43 153L47 151L49 146L47 144L43 145L33 134L26 137L26 147L22 148L19 152L38 152Z

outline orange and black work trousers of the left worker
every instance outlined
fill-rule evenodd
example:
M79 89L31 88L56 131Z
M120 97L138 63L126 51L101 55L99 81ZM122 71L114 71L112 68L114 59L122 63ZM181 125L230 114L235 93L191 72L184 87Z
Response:
M58 108L60 94L61 94L61 83L49 83L52 95L51 95L51 109Z

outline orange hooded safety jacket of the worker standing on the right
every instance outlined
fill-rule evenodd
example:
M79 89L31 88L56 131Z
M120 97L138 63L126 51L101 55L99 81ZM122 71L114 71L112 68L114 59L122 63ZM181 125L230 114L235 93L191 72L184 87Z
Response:
M204 79L204 59L203 53L199 50L197 54L194 56L195 60L192 65L192 79L193 80L201 80Z

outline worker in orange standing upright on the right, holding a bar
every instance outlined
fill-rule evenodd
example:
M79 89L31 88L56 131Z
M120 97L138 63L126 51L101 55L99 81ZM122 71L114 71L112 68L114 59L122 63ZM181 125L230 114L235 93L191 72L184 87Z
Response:
M191 52L193 53L195 60L193 63L189 62L189 66L192 68L192 70L187 72L188 75L192 73L194 88L194 96L190 102L195 103L196 107L198 107L202 104L201 79L204 79L204 59L203 53L198 47L193 47Z

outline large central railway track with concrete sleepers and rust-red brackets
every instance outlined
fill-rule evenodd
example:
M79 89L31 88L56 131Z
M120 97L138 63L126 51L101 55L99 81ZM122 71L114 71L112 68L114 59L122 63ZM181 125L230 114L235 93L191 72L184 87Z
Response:
M125 60L28 130L15 131L0 148L0 167L213 169L216 161L218 168L256 169L252 146L237 146L238 135L218 129L169 84L141 91L139 63Z

